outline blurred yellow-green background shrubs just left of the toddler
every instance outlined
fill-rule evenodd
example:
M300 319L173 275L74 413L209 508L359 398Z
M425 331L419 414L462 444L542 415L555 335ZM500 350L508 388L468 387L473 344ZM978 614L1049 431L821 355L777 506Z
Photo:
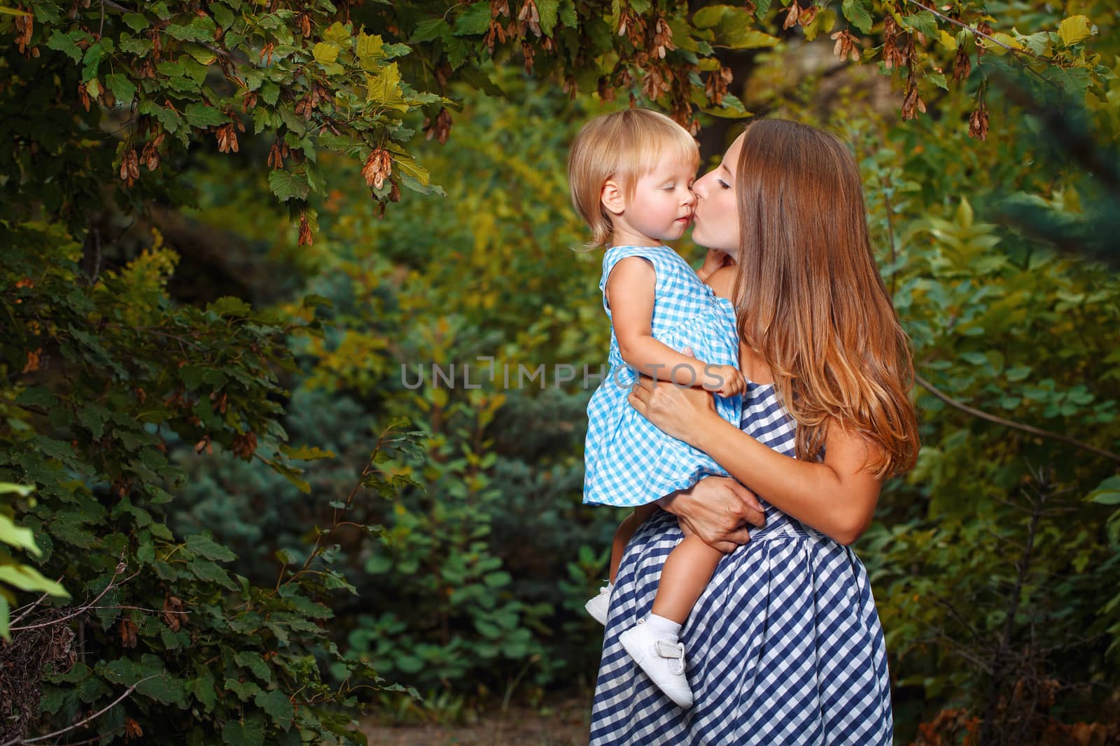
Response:
M519 105L478 100L459 124L463 147L424 153L445 172L472 174L446 199L403 204L392 223L377 220L360 192L337 195L320 213L324 239L299 262L314 266L308 291L330 309L321 338L297 344L284 418L295 441L338 454L305 474L327 499L352 481L347 464L367 423L407 416L424 431L422 457L386 466L417 487L364 506L363 520L383 525L390 540L346 561L363 603L336 605L337 629L347 631L349 655L431 701L449 687L468 706L521 679L539 692L594 663L598 640L582 602L606 560L563 585L552 575L575 559L572 547L601 554L618 518L571 500L589 391L582 370L561 388L551 372L580 360L594 370L609 331L599 259L572 251L582 236L563 160L580 117L536 85L504 84ZM559 117L570 123L557 128ZM480 356L495 358L498 385ZM456 366L454 386L432 384L433 362L445 372ZM503 366L515 388L519 363L544 363L547 390L540 379L502 390ZM416 388L418 375L427 384ZM465 375L483 387L466 388ZM193 465L175 525L209 527L236 549L241 572L260 572L305 520L299 493L260 464L200 462L183 445L176 453Z

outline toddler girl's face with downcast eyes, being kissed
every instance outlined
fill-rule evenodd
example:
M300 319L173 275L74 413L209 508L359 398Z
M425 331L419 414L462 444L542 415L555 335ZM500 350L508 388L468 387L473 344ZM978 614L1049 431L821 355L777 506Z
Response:
M696 172L696 163L691 160L671 159L641 177L622 214L613 216L617 238L634 244L640 238L663 242L684 235L696 206L692 193Z

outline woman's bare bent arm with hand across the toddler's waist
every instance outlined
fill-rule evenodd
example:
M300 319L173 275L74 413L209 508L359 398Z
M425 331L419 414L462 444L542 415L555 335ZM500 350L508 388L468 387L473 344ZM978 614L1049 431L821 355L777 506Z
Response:
M654 425L710 455L769 503L840 544L851 544L870 525L883 482L865 468L875 446L856 433L833 423L824 441L824 461L799 461L720 417L704 391L643 378L629 402Z

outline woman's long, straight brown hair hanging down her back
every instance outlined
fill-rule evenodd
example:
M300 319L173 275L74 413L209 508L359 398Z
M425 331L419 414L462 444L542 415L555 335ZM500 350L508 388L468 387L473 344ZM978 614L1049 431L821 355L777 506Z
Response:
M878 446L867 464L877 476L907 471L918 447L914 363L871 252L855 159L815 128L756 120L736 183L739 338L797 421L797 457L818 459L834 423Z

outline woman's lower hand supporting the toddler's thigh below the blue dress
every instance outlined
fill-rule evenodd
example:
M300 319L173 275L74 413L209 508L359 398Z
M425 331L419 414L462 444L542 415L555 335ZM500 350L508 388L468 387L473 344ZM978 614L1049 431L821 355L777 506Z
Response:
M754 493L727 476L706 476L657 504L676 516L685 536L694 533L724 554L749 541L748 526L762 526L765 520Z

